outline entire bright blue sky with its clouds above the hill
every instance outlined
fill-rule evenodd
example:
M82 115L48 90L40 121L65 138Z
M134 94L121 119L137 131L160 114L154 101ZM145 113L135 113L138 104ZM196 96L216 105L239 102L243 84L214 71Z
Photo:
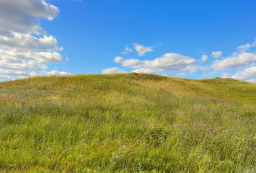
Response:
M256 1L0 2L0 80L84 73L256 83Z

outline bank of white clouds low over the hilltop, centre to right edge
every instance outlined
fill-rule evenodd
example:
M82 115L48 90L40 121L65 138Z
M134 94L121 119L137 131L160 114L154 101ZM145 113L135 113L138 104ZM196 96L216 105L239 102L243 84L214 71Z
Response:
M140 44L133 43L134 49L138 52L138 56L142 57L146 52L152 52L153 47L144 47ZM137 48L136 48L137 46ZM178 72L176 76L185 77L191 75L196 71L203 72L201 77L211 77L218 72L222 72L222 77L234 78L236 80L244 80L248 82L256 83L256 54L254 52L246 52L251 47L256 46L256 41L253 44L244 44L238 46L238 52L233 52L229 57L222 59L222 51L215 51L211 53L211 57L214 60L210 65L204 65L209 57L202 55L202 57L195 59L176 53L166 53L160 58L153 60L141 61L139 58L115 57L114 62L120 63L122 67L134 69L131 72L136 73L150 73L150 74L162 74L170 72ZM128 46L126 46L128 47ZM131 50L132 51L132 50ZM130 51L130 52L131 52ZM111 69L111 70L110 70ZM232 70L236 70L235 74L231 74ZM189 73L188 73L189 72ZM125 70L118 67L112 67L104 69L103 73L127 73Z

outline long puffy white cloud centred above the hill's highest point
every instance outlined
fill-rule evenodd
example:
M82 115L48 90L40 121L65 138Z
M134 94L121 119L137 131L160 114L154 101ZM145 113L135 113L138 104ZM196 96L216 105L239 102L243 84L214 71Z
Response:
M140 61L138 59L126 59L122 62L122 66L129 66L131 68L148 68L162 72L182 71L189 65L195 64L197 61L180 54L164 54L163 57L156 58L153 61Z

